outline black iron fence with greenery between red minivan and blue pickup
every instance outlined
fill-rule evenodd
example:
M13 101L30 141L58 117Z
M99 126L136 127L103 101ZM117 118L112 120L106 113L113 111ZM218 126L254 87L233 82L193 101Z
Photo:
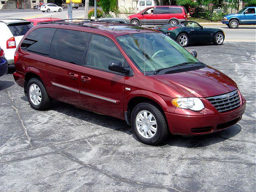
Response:
M207 10L205 8L197 7L194 13L190 14L190 16L193 18L200 18L200 19L216 22L216 21L220 21L224 15L232 14L236 12L237 10L230 10L230 11L225 11L223 9Z

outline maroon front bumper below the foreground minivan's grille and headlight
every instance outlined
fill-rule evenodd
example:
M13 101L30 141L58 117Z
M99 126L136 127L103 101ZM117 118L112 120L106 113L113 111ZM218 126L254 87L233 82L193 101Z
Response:
M171 134L194 136L224 130L241 120L246 108L242 97L239 108L230 112L214 112L211 115L189 116L165 112Z

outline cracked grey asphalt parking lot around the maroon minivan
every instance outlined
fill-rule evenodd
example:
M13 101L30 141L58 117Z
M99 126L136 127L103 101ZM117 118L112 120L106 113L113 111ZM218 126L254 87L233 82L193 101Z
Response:
M246 112L221 132L160 146L140 143L125 121L62 102L33 110L9 66L0 77L0 191L255 191L255 48L186 48L236 81Z

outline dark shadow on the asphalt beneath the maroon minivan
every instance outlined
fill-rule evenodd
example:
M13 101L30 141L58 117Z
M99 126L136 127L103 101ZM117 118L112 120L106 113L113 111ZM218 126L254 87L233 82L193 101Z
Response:
M28 98L26 96L22 96L21 99L28 102ZM72 116L74 118L78 118L80 120L96 124L98 126L104 126L112 130L124 132L126 134L132 135L135 140L138 140L133 134L131 126L127 125L124 120L76 108L73 105L66 104L57 100L54 100L52 102L49 110L54 110L67 116ZM220 132L215 132L212 134L206 134L203 136L183 137L180 135L170 135L166 142L158 146L161 148L169 146L178 146L184 148L203 147L232 138L241 130L242 127L238 124L235 124L234 126L226 130L222 130Z

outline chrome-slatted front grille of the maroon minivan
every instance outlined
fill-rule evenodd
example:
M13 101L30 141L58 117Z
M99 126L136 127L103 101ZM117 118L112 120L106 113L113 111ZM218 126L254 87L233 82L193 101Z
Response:
M207 99L220 113L234 110L241 105L241 99L238 90L234 90L219 96L208 97Z

